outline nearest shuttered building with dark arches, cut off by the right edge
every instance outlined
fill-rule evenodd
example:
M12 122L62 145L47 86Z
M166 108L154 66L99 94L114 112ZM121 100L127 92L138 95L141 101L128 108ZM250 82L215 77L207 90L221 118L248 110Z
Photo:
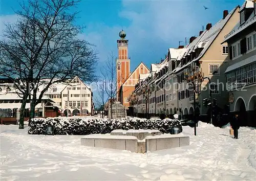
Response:
M227 33L228 67L225 71L231 112L242 125L256 126L256 1L245 1L237 25Z

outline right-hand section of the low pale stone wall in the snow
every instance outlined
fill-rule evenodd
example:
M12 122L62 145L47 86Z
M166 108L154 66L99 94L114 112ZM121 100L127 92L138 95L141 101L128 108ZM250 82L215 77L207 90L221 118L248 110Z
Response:
M163 134L146 137L146 151L157 151L189 145L189 137L179 134Z

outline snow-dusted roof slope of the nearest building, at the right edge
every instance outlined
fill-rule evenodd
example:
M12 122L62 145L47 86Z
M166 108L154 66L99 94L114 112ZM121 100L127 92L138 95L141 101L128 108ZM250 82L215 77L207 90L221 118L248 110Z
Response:
M252 12L250 17L247 19L247 21L245 21L242 25L240 25L240 21L239 21L238 24L234 27L234 29L231 30L226 36L224 36L224 41L222 43L226 42L228 39L240 33L241 31L243 31L250 25L254 24L255 22L256 22L256 16L254 16Z

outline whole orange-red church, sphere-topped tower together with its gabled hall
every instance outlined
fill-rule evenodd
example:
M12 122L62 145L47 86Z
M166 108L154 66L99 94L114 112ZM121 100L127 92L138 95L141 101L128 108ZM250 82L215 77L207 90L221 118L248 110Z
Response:
M119 32L120 39L117 40L118 57L116 59L116 85L117 101L121 102L126 108L130 106L127 98L133 92L135 85L139 81L139 74L150 72L147 66L141 62L131 73L131 60L128 58L128 40L125 39L125 32Z

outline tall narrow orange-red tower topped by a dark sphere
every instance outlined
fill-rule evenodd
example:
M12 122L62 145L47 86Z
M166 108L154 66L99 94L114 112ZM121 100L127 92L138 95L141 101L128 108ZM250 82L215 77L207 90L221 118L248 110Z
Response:
M118 58L116 59L116 82L118 95L120 86L130 75L130 59L128 59L128 40L125 32L119 32L120 39L117 40ZM118 98L117 95L117 98Z

